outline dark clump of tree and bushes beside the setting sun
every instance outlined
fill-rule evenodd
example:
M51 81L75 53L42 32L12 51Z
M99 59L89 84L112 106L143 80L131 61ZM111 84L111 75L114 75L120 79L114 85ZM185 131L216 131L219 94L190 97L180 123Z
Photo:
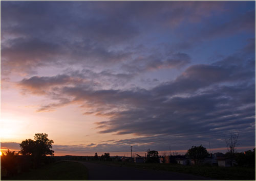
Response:
M20 151L6 151L1 156L1 179L36 169L54 162L53 140L47 134L37 133L34 139L26 139L19 144Z

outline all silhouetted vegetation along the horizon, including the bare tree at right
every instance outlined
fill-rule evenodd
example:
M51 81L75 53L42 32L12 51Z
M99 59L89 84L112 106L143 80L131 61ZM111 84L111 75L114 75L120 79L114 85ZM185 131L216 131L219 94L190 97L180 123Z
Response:
M231 170L237 169L238 171L234 171L234 172L236 172L238 175L240 174L241 170L242 171L249 170L248 173L243 174L241 176L241 178L247 178L246 176L248 174L251 174L251 168L255 168L255 148L253 149L253 151L248 150L245 152L238 153L236 151L237 138L238 138L238 135L237 135L236 139L233 139L233 137L231 138L231 140L234 140L234 142L232 142L232 143L235 143L235 144L232 144L232 145L234 145L232 159L237 162L237 165L233 165L234 167L232 167L230 169L229 168L225 168L225 169L230 170L229 175L231 175L231 176L233 174L233 171L231 172ZM94 156L47 157L48 155L54 156L54 151L52 150L52 144L53 144L53 140L48 139L47 134L37 133L37 134L35 134L33 140L26 139L26 140L22 141L22 143L20 144L20 151L18 153L16 153L15 151L10 151L8 149L8 151L3 153L3 155L1 156L1 179L3 179L3 178L9 179L9 178L12 178L13 175L15 176L18 173L28 171L31 168L35 169L44 164L52 163L55 161L63 161L63 160L66 160L66 161L67 160L97 161L99 163L104 162L105 164L109 163L109 162L105 162L105 161L113 161L111 164L113 164L115 162L116 163L125 162L122 159L118 158L118 156L113 157L113 159L112 159L110 157L110 153L108 153L108 152L105 152L100 157L98 157L97 152L95 153ZM223 171L223 168L219 168L219 167L215 167L215 166L207 166L207 165L203 164L204 158L206 158L208 155L209 155L209 153L207 152L206 148L203 147L202 145L192 146L190 149L187 150L187 153L186 153L186 156L188 158L190 158L191 160L193 160L195 162L195 164L197 164L198 168L200 167L202 169L206 169L206 168L208 169L208 167L209 167L209 170L216 169L218 171ZM230 152L227 152L225 156L230 159ZM159 158L160 157L159 157L158 151L156 151L156 150L148 151L147 157L146 157L146 163L153 163L153 164L140 164L140 163L138 163L138 164L136 163L136 164L138 167L140 167L140 166L142 166L142 167L146 166L149 168L151 168L153 166L155 167L156 164L159 163ZM202 164L200 164L200 163L202 163ZM120 164L121 165L132 164L132 165L136 166L136 164L134 164L134 163L120 163ZM183 168L183 165L179 165L179 164L166 165L167 166L166 168L164 165L166 165L166 164L159 164L157 166L159 168L163 167L163 169L166 169L169 166L172 166L172 168L175 168L175 169L180 169L181 167ZM184 169L193 169L193 168L194 167L184 167ZM248 169L248 170L246 170L246 169ZM208 171L208 173L213 173L213 172L215 172L215 171L214 170ZM200 172L200 174L201 174L201 172ZM236 174L234 174L234 176L236 176ZM252 178L252 176L249 175L248 178Z

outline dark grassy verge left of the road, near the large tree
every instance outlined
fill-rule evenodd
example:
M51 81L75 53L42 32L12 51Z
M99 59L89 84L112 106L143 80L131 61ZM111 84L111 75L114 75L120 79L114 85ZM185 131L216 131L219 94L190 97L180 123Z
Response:
M87 180L88 171L85 166L77 162L61 161L31 170L9 180Z

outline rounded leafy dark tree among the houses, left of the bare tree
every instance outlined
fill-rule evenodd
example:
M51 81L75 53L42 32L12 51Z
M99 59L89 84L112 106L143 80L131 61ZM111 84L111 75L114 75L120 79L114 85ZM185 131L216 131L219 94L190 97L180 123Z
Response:
M203 160L209 155L209 153L205 147L200 145L200 146L192 146L190 149L187 150L186 155L190 159L192 159L195 162L195 164L199 164L201 160Z

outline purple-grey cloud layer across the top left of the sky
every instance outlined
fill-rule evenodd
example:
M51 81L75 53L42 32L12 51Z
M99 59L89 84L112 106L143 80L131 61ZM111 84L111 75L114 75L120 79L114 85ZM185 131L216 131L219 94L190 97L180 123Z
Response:
M164 59L159 50L142 56L128 47L143 44L149 33L161 34L153 24L171 31L214 11L223 13L224 7L224 2L3 2L2 71L35 74L49 65L105 67L127 61L142 66L138 71L180 68L190 61L185 53Z

